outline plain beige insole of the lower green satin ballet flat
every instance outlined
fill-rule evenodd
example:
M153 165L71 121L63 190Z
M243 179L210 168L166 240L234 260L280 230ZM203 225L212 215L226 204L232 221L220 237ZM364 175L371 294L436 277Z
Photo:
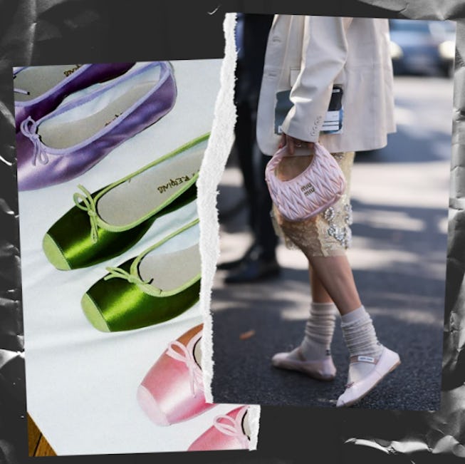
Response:
M148 253L139 263L142 280L152 280L157 289L175 290L200 273L199 245L163 254Z

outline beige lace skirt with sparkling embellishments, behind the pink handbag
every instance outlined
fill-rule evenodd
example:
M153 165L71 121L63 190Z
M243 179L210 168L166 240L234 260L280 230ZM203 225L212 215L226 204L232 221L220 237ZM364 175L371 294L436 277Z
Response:
M273 207L271 215L276 233L283 237L286 247L301 249L308 257L344 254L352 242L352 207L350 205L350 174L355 153L332 153L343 170L347 187L333 206L303 222L285 220Z

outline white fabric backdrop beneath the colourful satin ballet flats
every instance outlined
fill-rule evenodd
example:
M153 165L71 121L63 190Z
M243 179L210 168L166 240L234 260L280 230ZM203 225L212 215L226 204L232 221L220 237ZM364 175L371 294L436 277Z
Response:
M172 65L178 95L164 118L80 177L19 193L27 410L58 455L185 450L214 416L236 407L219 405L160 427L137 404L137 386L169 341L202 321L199 304L172 321L115 334L94 329L80 308L84 292L106 266L135 257L192 220L194 203L156 220L125 254L87 269L58 271L41 248L48 228L73 206L79 183L93 192L211 130L221 60Z

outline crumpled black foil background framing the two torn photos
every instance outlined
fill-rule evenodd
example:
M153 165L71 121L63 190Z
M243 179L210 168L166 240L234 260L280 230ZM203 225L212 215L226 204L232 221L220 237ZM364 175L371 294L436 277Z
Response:
M257 464L455 463L465 459L463 0L226 0L221 4L213 0L0 0L0 464L36 459L27 457L11 67L221 58L224 14L234 11L457 20L442 406L434 413L263 407L254 453L41 459ZM70 439L78 440L78 431Z

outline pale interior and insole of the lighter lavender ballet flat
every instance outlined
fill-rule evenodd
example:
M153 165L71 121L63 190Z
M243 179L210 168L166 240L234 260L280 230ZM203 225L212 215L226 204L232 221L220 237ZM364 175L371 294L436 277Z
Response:
M108 86L108 91L100 93L102 87L95 87L98 96L53 115L39 125L38 133L42 142L57 149L84 142L120 117L159 82L160 66L155 66L121 81L116 86ZM86 96L85 99L87 98L89 97ZM76 99L75 103L77 102Z

